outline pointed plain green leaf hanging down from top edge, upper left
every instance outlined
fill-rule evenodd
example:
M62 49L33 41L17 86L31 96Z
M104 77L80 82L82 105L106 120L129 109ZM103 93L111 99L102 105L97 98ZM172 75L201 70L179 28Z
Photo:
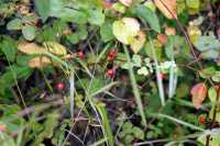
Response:
M51 0L35 0L34 3L37 13L40 14L43 22L45 22L50 16Z

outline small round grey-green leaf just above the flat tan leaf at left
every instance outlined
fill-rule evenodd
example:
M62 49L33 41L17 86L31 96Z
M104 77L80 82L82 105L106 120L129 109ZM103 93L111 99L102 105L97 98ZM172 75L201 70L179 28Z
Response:
M22 34L28 41L33 41L35 38L35 32L36 30L34 26L26 25L22 29Z

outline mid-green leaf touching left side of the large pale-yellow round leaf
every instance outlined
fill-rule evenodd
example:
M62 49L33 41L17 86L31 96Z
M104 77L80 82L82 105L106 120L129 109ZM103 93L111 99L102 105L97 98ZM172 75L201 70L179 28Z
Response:
M108 42L114 38L112 33L112 24L110 21L106 21L100 27L100 35L103 42Z

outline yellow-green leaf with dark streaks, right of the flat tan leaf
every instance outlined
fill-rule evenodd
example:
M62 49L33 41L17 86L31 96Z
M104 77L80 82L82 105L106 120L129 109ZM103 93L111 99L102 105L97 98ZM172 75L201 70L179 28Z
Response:
M66 47L56 43L56 42L45 42L44 47L50 52L55 55L66 55Z

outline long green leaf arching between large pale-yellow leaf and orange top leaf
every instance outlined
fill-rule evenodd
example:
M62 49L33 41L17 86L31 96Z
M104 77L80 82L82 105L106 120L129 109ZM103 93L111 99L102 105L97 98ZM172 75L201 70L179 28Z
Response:
M138 5L136 15L144 19L144 21L148 23L154 31L161 33L158 18L156 16L155 12L153 12L151 9L148 9L145 5Z

